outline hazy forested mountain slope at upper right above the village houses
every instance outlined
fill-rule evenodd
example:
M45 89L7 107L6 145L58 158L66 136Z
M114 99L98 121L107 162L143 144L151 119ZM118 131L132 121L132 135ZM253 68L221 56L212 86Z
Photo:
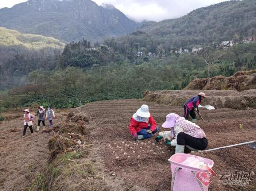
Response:
M231 0L196 9L159 23L147 22L136 30L171 47L239 40L256 34L256 1Z

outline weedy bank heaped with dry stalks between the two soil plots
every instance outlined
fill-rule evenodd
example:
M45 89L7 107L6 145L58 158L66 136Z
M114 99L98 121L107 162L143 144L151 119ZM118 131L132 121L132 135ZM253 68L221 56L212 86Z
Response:
M87 119L77 116L74 111L67 116L66 122L55 127L54 135L48 141L48 164L44 167L44 173L32 182L31 191L74 191L84 188L85 185L84 191L93 190L92 181L97 179L94 166L90 162L77 163L81 157L86 158L92 146L89 144L89 133L84 124ZM79 176L81 179L74 179ZM85 182L84 178L90 177L93 178Z

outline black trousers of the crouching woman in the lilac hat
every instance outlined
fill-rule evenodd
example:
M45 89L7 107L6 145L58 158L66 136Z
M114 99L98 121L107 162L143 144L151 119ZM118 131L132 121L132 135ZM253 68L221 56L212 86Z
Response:
M207 148L208 140L207 138L198 139L195 137L192 137L189 134L186 134L184 132L180 132L177 135L177 144L178 145L189 145L192 148L198 149L198 150L204 150Z

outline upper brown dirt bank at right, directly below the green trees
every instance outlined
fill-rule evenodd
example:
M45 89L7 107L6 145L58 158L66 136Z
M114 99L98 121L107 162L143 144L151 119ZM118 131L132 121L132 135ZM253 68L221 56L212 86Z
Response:
M256 71L239 71L233 76L215 76L210 78L210 88L208 78L197 78L186 86L188 89L201 90L238 90L256 89Z

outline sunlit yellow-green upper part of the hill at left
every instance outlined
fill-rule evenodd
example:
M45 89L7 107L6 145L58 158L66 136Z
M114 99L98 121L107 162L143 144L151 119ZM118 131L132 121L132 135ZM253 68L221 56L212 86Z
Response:
M22 34L15 30L0 27L0 60L10 58L15 54L43 51L53 53L65 46L61 41L35 34Z

